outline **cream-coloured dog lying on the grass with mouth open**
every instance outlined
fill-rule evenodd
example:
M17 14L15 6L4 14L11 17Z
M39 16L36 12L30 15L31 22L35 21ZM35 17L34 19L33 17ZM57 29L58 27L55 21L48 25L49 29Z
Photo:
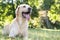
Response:
M11 24L5 25L2 34L8 34L11 38L15 38L17 35L20 35L23 36L24 40L28 40L28 21L30 19L31 12L32 8L29 5L19 5L15 11L16 17L13 19Z

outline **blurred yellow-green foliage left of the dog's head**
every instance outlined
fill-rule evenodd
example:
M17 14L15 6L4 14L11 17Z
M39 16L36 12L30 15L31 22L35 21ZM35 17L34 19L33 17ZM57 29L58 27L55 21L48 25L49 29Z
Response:
M11 22L13 19L12 4L0 3L0 25L3 26L5 22Z

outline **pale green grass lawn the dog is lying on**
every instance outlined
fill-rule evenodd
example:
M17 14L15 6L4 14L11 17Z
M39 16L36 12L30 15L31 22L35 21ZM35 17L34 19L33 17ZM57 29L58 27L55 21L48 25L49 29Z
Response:
M52 29L29 29L29 40L60 40L60 30ZM0 40L11 40L8 36L3 36L0 29ZM16 37L15 40L22 40Z

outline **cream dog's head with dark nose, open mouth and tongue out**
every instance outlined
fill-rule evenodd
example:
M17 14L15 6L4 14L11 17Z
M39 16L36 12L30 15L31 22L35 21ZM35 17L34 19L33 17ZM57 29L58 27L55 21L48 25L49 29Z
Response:
M21 4L16 9L16 17L19 16L29 20L31 12L32 12L32 8L29 5Z

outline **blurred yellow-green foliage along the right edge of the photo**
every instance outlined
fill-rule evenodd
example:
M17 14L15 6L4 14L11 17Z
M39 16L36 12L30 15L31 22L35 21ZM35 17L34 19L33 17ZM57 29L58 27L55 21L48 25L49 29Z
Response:
M55 0L55 3L51 5L48 16L53 26L60 29L60 0Z

